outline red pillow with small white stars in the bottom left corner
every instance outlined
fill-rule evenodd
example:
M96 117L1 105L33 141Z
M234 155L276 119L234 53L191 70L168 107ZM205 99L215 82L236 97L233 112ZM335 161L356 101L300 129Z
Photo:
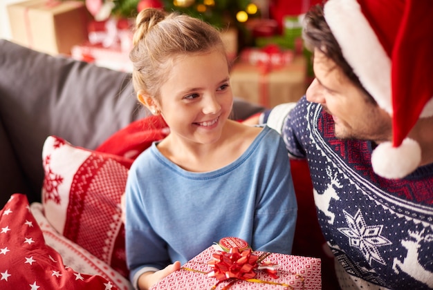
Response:
M30 212L26 195L15 193L0 211L0 289L118 289L113 281L64 265Z

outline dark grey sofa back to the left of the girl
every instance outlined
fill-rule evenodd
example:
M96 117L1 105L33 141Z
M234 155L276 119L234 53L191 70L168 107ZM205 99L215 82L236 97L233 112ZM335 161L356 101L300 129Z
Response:
M147 115L136 101L129 74L52 57L6 40L0 40L0 76L0 120L22 173L1 177L0 188L24 178L30 202L40 200L42 146L48 135L93 149ZM13 166L7 164L0 166Z

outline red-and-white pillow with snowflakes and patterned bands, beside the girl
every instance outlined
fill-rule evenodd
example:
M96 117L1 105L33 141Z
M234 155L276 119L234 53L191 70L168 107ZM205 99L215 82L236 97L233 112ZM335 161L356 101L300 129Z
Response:
M133 160L72 146L55 136L46 139L42 157L48 222L127 277L120 198Z

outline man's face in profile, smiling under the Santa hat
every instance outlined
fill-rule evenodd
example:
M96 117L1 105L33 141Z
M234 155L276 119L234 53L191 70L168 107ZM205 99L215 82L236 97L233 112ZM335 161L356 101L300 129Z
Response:
M321 104L333 117L335 137L378 143L391 140L391 117L317 48L313 68L315 79L306 90L306 98Z

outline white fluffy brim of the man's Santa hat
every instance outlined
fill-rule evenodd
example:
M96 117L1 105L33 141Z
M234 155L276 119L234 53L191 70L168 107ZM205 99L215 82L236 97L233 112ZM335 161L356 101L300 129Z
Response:
M340 44L344 59L378 105L392 114L391 59L356 0L333 0L324 5L326 23Z

